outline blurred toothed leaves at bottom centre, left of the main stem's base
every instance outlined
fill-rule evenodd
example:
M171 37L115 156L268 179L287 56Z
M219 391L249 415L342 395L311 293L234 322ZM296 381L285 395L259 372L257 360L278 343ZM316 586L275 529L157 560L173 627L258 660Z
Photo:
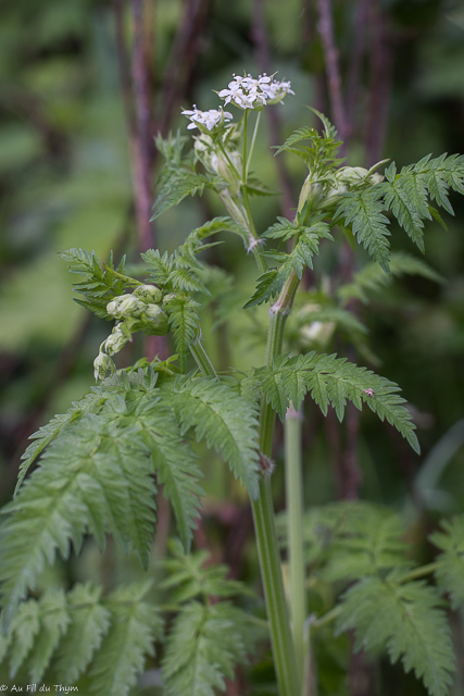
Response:
M214 688L225 689L224 676L233 679L235 663L247 661L256 631L244 611L229 601L213 604L211 598L250 592L242 583L226 580L226 567L204 567L208 552L185 556L175 540L171 551L173 558L162 562L167 571L162 587L183 606L167 637L162 662L166 694L213 696Z

